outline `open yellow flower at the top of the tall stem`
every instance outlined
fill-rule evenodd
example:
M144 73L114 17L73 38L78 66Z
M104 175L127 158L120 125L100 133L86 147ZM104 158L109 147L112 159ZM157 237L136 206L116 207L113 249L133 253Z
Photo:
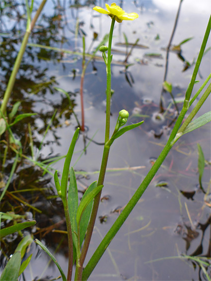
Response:
M108 14L118 22L122 22L123 20L134 20L139 17L137 13L126 13L120 6L116 5L116 3L112 3L111 6L108 4L105 5L108 11L98 6L95 6L93 10L102 14Z

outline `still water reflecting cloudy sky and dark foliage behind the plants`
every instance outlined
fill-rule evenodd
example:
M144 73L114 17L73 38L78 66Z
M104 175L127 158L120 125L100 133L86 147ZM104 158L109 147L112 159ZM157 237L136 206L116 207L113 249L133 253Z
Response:
M81 5L76 7L74 1L48 1L43 11L45 16L38 20L30 43L82 52L81 35L86 34L87 51L92 42L93 32L96 32L98 39L93 46L97 46L103 36L109 32L111 20L106 15L94 12L92 10L94 5L90 2L77 1L77 4ZM18 12L21 14L24 12L22 2L11 3L16 5L10 10L13 13L12 19L11 15L6 13L2 17L3 30L9 34L4 34L1 39L1 42L5 43L1 43L2 92L14 63L15 50L19 48L21 37L17 35L17 30L23 32L25 22L22 18L18 19ZM110 4L111 1L108 3ZM38 3L36 4L38 6ZM95 1L95 4L104 7L104 1ZM112 43L112 89L115 93L112 97L111 128L115 127L118 112L123 108L128 110L131 116L128 124L141 120L144 120L144 124L125 134L111 147L108 161L110 169L102 192L102 197L108 200L102 200L100 204L85 264L100 243L101 236L107 233L118 217L118 211L121 211L130 200L153 161L158 157L172 130L171 123L175 117L175 107L167 92L162 94L164 114L160 118L157 114L161 110L160 98L165 72L166 47L179 1L127 0L117 4L122 4L127 12L137 12L140 16L135 21L115 24ZM178 101L184 98L190 82L194 62L209 20L210 8L211 4L208 0L200 3L184 0L182 3L172 46L178 45L187 38L193 37L193 39L181 45L180 57L175 52L169 53L166 78L172 83L172 92ZM78 32L75 32L76 23L79 23ZM136 46L132 50L127 61L132 65L127 69L122 64L126 58L126 46L121 45L125 43L123 33L127 36L128 43L134 44L140 39L138 45L145 46L145 48ZM209 47L210 45L206 49ZM130 49L131 46L128 47L128 52ZM210 54L208 51L203 58L200 75L197 77L200 83L194 87L193 94L210 73ZM100 53L97 55L100 56ZM190 67L185 71L183 70L187 63L181 60L181 56L190 63ZM14 127L13 133L24 146L23 154L32 158L27 137L28 123L32 128L35 158L43 161L67 153L77 122L69 108L68 99L54 87L70 92L74 112L80 121L81 63L79 55L35 47L27 48L10 100L11 105L16 101L22 101L19 113L38 113L36 117L30 117ZM104 141L105 88L105 66L102 61L96 59L86 70L83 92L87 136L89 138L94 136L93 140L100 143ZM182 103L178 103L179 110L181 107ZM197 116L208 112L210 108L209 98ZM57 109L56 117L41 150L38 151L55 109ZM199 262L176 257L179 255L206 257L207 262L211 257L210 135L208 124L185 135L175 144L89 280L207 280ZM6 136L3 138L6 139ZM89 141L86 140L85 144L88 143ZM197 143L202 146L207 161L202 181L206 194L199 188ZM96 171L100 167L103 146L90 142L86 153L82 153L80 157L83 148L84 142L80 135L72 160L72 163L75 163L74 169L80 191L97 180ZM12 152L9 157L5 163L5 174L11 169L12 157L14 157ZM64 159L52 164L52 168L62 171L63 164ZM58 262L67 273L66 236L52 232L52 229L48 228L55 224L54 229L65 230L62 204L55 197L52 177L42 173L42 169L33 166L29 160L22 159L8 189L12 192L30 188L32 190L30 193L17 194L41 210L41 214L24 206L18 208L18 202L9 194L5 195L1 211L16 211L19 214L27 212L29 218L35 218L37 224L32 229L34 236L45 243L51 252L56 252ZM82 194L79 193L79 196ZM14 209L11 206L14 206ZM10 241L6 239L1 243L2 253L7 256L13 253L19 242L16 236L10 239L14 240L13 243L8 243ZM48 256L38 249L35 243L31 245L30 253L33 253L31 263L20 280L51 280L59 276L56 266L49 264ZM175 258L166 259L167 257ZM152 262L155 259L160 260ZM5 263L3 254L1 263L3 265ZM204 270L209 274L207 266L204 266Z

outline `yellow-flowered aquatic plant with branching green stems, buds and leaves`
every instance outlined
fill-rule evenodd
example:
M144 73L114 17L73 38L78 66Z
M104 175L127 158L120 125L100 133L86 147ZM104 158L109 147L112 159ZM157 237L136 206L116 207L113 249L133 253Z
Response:
M110 101L111 101L111 61L112 61L112 55L111 55L111 45L112 45L112 37L113 37L113 29L115 21L122 22L122 20L133 20L137 18L136 13L127 14L125 13L119 6L117 6L115 3L113 3L111 6L106 4L106 7L108 9L108 12L100 7L95 7L94 9L96 11L99 11L103 14L108 14L112 18L111 23L111 29L110 29L110 35L109 35L109 44L107 46L101 46L100 51L102 52L102 57L106 65L106 72L107 72L107 89L106 89L106 97L107 97L107 104L106 104L106 129L105 129L105 144L104 144L104 150L103 150L103 156L102 156L102 162L101 162L101 168L99 173L99 178L97 182L93 182L86 192L84 193L82 200L78 206L78 191L77 191L77 183L75 178L75 173L73 168L70 168L70 162L74 150L74 146L76 143L76 140L78 138L79 134L79 128L76 129L74 136L72 138L69 151L66 156L64 169L62 173L62 179L61 182L58 177L58 171L54 174L54 180L56 189L58 192L59 197L61 198L64 206L65 216L66 216L66 223L67 223L67 231L68 231L68 242L69 242L69 269L68 269L68 276L66 277L62 267L58 264L55 257L50 253L50 251L38 240L36 239L36 243L41 246L41 248L51 257L51 259L55 262L57 265L62 279L65 280L71 280L72 276L72 266L74 262L76 263L76 270L75 270L75 278L74 280L87 280L90 276L91 272L97 265L98 261L100 260L101 256L103 255L104 251L108 247L111 240L114 238L122 224L125 222L126 218L130 214L130 212L133 210L133 208L136 206L138 201L140 200L143 192L148 187L150 181L156 174L157 170L161 166L162 162L164 161L165 157L173 147L173 145L176 143L176 141L179 140L184 134L189 133L193 130L196 130L197 128L200 128L201 126L205 125L206 123L211 121L210 114L205 114L201 116L200 118L193 120L198 110L202 107L202 105L205 103L207 97L211 93L211 84L206 88L204 91L201 99L198 101L198 103L195 105L194 109L189 114L189 117L184 121L185 114L187 113L188 109L190 108L190 105L193 104L193 102L196 100L196 98L199 96L199 94L204 90L206 87L208 81L211 79L211 75L205 80L205 82L202 84L199 91L194 95L194 97L191 99L191 93L194 87L194 84L196 83L196 75L199 70L199 66L205 51L206 43L208 41L208 37L211 30L211 18L208 23L207 30L205 32L204 40L202 43L202 47L197 59L197 63L192 75L191 82L189 84L189 87L186 91L185 101L183 104L182 111L180 112L178 119L176 121L176 124L171 132L171 135L169 137L169 140L167 141L165 147L163 148L162 152L160 153L159 157L155 161L154 165L142 181L141 185L131 198L131 200L128 202L127 206L124 208L124 210L121 212L113 226L110 228L106 236L103 238L102 242L98 246L97 250L87 263L86 267L83 269L83 263L86 257L86 253L88 251L96 214L99 206L100 201L100 195L101 190L103 188L104 184L104 177L106 173L106 166L107 161L109 157L109 151L112 143L121 137L124 133L140 126L142 122L139 122L137 124L132 124L129 126L124 126L127 123L127 119L129 117L129 113L123 109L119 112L119 116L117 119L116 126L114 128L114 132L112 136L110 137ZM5 121L5 120L4 120ZM182 124L183 123L183 124ZM7 125L6 121L5 124ZM8 126L7 126L8 127ZM8 129L8 128L7 128ZM201 173L202 176L202 173ZM69 182L70 178L70 182ZM201 180L201 178L200 178ZM69 186L69 188L68 188ZM30 225L33 225L34 221L31 222ZM28 224L27 224L28 225ZM20 227L20 228L18 228ZM25 226L26 227L26 226ZM20 229L23 229L22 225L16 224L14 229L12 231L18 231ZM3 229L4 233L11 233L9 232L9 229ZM1 232L2 233L2 232ZM86 234L86 236L85 236ZM84 240L85 237L85 240ZM83 243L84 240L84 243ZM31 240L30 240L31 241ZM83 243L83 245L82 245ZM27 244L28 245L28 244ZM82 246L82 247L81 247ZM25 248L24 248L25 249ZM2 280L8 280L9 274L11 274L11 269L13 269L15 273L15 280L18 278L18 273L20 273L20 259L22 257L21 255L21 249L17 250L17 254L15 253L12 258L9 260L5 271L3 272L1 279ZM15 262L15 258L18 257L18 263ZM6 273L7 272L7 273ZM8 273L9 272L9 273ZM6 274L8 274L6 276ZM6 276L6 277L5 277ZM11 277L9 277L11 278Z

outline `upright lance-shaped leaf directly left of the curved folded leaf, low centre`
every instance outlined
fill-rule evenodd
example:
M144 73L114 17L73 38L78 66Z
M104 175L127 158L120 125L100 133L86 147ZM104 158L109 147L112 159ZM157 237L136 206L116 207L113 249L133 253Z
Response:
M68 191L68 211L70 214L70 224L72 231L72 240L77 250L77 223L76 223L76 213L78 208L78 195L77 195L77 183L75 178L75 173L73 168L70 169L70 186Z

